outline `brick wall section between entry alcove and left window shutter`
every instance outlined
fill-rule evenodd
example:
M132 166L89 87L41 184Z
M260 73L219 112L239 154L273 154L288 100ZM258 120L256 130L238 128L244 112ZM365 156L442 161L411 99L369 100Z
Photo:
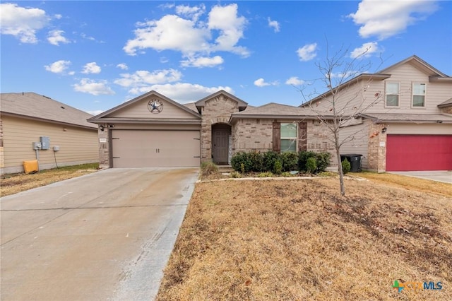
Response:
M232 152L273 149L273 119L240 119L232 127Z

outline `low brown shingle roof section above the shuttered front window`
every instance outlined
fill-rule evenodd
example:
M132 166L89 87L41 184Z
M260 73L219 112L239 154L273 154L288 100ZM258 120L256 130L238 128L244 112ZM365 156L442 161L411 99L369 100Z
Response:
M281 105L279 103L270 102L260 107L248 108L242 112L231 114L230 122L234 119L241 118L260 118L260 119L311 119L317 118L317 114L309 110L307 107L293 107L292 105ZM329 117L322 115L322 117ZM331 117L333 117L331 115Z

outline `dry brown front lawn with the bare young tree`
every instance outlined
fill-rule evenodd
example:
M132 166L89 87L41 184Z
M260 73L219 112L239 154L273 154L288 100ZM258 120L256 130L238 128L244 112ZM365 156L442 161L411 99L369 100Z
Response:
M451 197L346 189L334 178L196 184L157 300L452 300ZM398 293L396 279L443 289Z

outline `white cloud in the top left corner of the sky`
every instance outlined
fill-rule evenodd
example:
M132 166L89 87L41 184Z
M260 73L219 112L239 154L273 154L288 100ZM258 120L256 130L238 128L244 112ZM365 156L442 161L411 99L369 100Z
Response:
M25 8L18 4L0 4L0 33L13 35L23 43L37 43L36 32L51 20L40 8Z

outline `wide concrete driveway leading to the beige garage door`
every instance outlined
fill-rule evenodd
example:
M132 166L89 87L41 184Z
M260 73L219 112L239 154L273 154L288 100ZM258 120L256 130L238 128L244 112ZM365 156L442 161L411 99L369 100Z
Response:
M1 199L1 300L152 300L198 169L111 169Z

